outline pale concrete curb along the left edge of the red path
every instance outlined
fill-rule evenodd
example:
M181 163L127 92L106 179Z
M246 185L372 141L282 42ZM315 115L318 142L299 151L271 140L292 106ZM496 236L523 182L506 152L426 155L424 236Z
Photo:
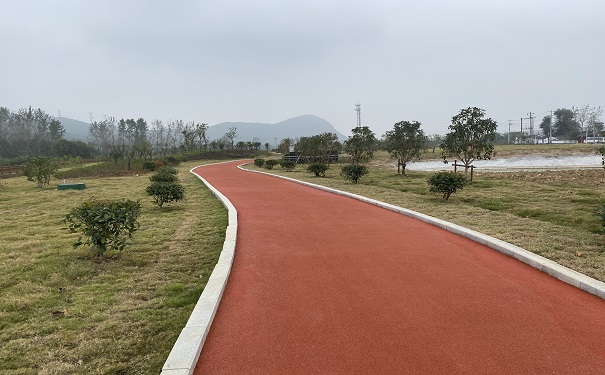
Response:
M215 163L222 164L222 163ZM198 167L205 167L206 164ZM189 172L197 176L202 182L212 191L212 193L223 203L229 211L229 224L225 233L225 242L223 250L218 259L218 263L214 267L208 283L193 308L193 312L176 340L164 367L162 367L162 375L190 375L193 374L197 360L202 351L202 346L206 341L206 336L210 330L210 325L218 309L218 304L223 296L231 266L233 265L233 257L235 255L235 243L237 240L237 210L231 204L229 199L221 192L216 190L202 176L193 172L195 168L191 168Z

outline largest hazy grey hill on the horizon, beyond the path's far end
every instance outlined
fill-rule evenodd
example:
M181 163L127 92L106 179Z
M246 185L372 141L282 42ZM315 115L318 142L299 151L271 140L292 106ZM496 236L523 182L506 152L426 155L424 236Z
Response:
M218 139L233 127L237 128L237 141L252 141L257 138L260 142L271 145L275 142L275 138L279 142L283 138L308 137L321 133L334 133L341 141L347 138L332 124L313 115L302 115L277 124L223 122L209 127L206 134L209 140Z

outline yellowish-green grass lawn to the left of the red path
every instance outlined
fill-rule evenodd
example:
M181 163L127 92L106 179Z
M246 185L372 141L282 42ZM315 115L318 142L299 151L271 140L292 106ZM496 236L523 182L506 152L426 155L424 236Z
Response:
M82 178L86 190L0 189L0 373L159 373L224 241L227 212L188 170L186 200L159 209L149 175ZM68 181L76 182L76 181ZM90 197L140 200L141 227L122 254L95 260L62 229Z

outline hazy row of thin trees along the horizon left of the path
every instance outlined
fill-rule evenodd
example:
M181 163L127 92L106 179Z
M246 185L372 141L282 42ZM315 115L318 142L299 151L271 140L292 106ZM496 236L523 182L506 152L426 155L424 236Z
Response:
M64 139L61 122L41 109L22 108L11 111L0 107L0 158L30 156L107 156L117 160L151 159L177 152L258 151L262 144L236 142L235 127L219 139L210 140L208 124L113 117L90 124L87 142ZM267 147L268 144L265 144Z

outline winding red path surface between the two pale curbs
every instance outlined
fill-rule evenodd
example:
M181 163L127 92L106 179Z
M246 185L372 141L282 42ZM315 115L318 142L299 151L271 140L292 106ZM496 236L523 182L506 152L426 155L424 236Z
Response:
M605 301L366 203L197 171L235 205L196 374L605 374Z

